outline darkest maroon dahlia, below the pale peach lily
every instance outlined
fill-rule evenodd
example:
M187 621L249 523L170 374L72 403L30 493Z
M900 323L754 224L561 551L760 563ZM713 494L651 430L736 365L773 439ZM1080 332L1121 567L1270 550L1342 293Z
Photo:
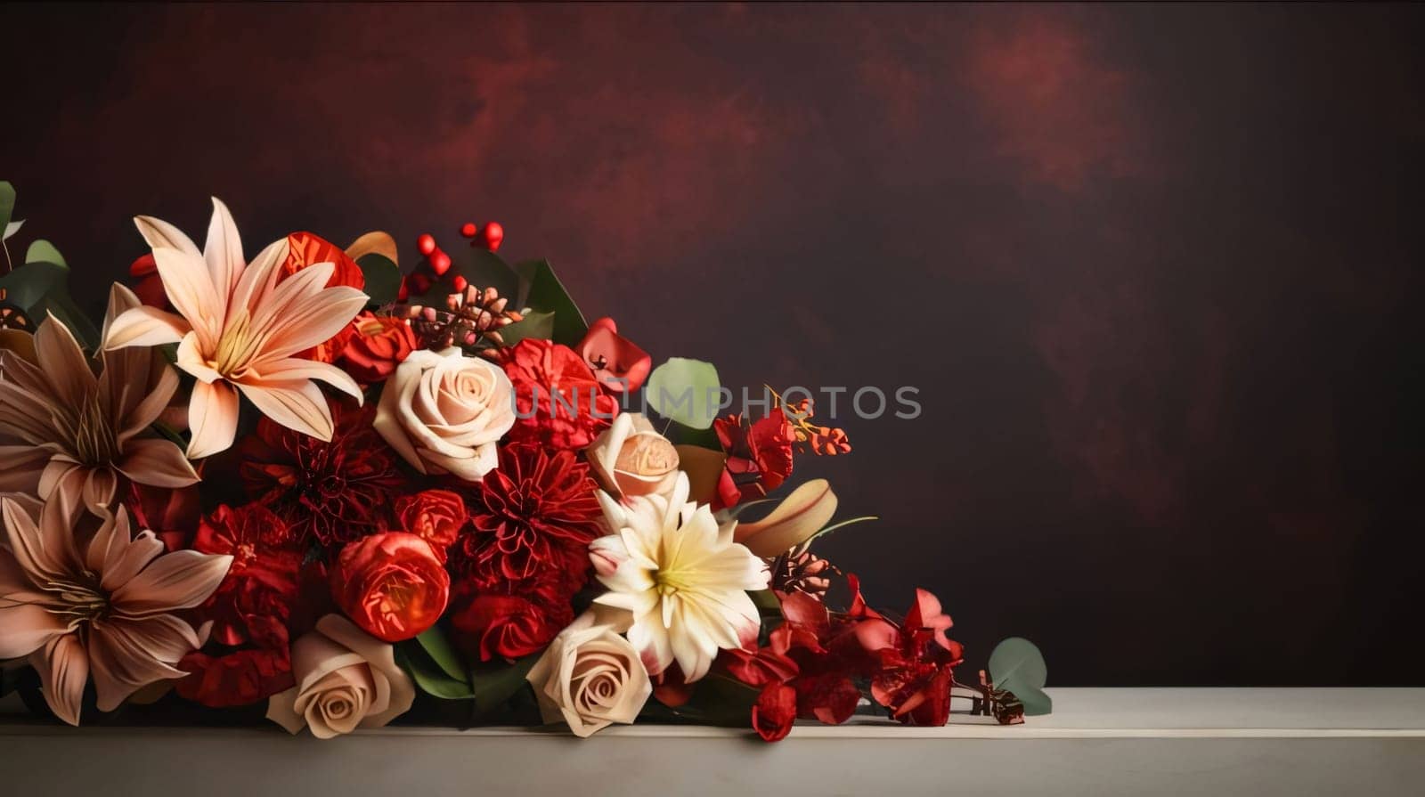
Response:
M372 428L375 408L331 402L331 442L262 418L239 443L248 493L291 523L302 540L339 545L386 530L402 485L396 456Z

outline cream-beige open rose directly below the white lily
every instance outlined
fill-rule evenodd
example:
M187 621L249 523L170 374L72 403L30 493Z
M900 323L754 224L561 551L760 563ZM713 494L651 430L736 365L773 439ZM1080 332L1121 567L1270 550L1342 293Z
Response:
M638 652L594 612L560 632L526 679L544 721L564 720L580 737L633 723L653 694Z

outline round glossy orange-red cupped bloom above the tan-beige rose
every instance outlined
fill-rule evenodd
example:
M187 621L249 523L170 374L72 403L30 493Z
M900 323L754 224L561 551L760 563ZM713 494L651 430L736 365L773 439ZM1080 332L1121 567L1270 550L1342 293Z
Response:
M332 567L332 599L366 633L412 639L436 624L450 597L450 575L435 550L406 532L346 543Z

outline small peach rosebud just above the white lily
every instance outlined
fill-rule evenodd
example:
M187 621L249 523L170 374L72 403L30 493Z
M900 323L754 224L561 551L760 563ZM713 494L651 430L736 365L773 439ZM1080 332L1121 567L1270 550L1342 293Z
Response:
M667 495L678 479L678 451L637 412L614 418L587 453L600 485L618 498Z

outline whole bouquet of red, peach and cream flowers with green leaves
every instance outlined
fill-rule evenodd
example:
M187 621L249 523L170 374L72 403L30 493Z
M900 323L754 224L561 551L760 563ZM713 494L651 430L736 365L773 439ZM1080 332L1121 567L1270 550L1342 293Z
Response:
M13 207L0 184L7 240ZM135 224L150 252L98 326L53 245L6 244L0 691L33 710L777 740L939 726L955 696L1006 724L1047 709L1033 646L958 684L933 595L872 610L811 552L865 520L832 522L825 480L768 498L845 432L770 388L762 416L720 416L710 364L653 368L547 262L506 264L500 225L466 224L462 262L422 235L402 272L383 232L248 259L217 200L202 248Z

